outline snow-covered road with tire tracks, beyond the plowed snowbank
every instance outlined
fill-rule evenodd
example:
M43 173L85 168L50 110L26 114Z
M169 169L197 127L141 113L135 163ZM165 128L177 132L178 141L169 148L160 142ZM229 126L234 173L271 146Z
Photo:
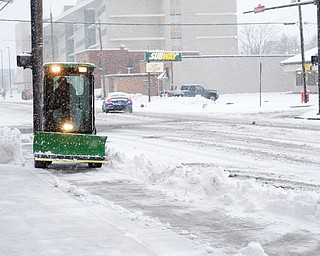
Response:
M317 121L251 115L177 116L175 114L113 114L99 118L99 130L110 145L130 152L174 158L182 164L222 166L249 175L268 174L288 181L319 185L320 133ZM271 178L271 177L270 177ZM276 177L274 177L276 179Z

